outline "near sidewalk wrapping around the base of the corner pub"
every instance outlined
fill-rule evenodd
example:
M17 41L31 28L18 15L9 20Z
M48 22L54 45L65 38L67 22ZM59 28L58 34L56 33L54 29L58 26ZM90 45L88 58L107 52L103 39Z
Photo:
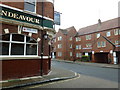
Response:
M6 80L6 81L0 82L0 86L2 86L2 89L19 88L23 86L71 79L77 76L78 75L73 71L52 67L52 70L48 75L45 75L42 77L37 76L37 77L21 78L21 79L14 79L14 80Z

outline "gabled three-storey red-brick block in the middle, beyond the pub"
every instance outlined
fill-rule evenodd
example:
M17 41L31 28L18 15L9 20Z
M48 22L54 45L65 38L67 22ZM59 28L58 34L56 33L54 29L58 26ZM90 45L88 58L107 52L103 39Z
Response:
M59 29L54 39L54 55L57 59L74 60L74 37L76 29L70 27Z

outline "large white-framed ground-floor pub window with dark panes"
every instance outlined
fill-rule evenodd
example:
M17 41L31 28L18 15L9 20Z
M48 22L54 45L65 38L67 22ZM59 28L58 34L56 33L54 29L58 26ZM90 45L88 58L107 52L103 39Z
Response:
M20 34L5 34L0 36L0 55L6 56L37 56L38 43L35 39Z

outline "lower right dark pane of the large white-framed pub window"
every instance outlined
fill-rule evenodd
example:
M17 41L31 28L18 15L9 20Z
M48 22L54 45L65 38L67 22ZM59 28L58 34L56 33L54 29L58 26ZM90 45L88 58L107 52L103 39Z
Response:
M27 44L26 49L26 55L37 55L37 45Z

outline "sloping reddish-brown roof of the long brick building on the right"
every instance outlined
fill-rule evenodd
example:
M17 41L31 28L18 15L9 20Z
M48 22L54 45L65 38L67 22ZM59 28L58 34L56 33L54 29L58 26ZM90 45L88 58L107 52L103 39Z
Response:
M84 28L79 29L78 35L84 35L84 34L89 34L89 33L94 33L94 32L99 32L99 31L104 31L112 28L117 28L118 27L118 19L111 19L105 22L99 22L98 24L94 24L91 26L87 26Z

